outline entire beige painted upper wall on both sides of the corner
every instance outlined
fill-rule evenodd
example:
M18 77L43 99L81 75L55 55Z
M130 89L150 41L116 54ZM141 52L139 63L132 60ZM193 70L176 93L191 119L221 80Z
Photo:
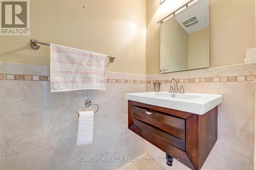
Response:
M187 1L30 2L31 35L0 36L0 60L49 65L49 47L32 50L33 38L116 56L108 71L150 75L159 73L157 21ZM210 0L210 66L244 62L255 46L254 8L254 0Z

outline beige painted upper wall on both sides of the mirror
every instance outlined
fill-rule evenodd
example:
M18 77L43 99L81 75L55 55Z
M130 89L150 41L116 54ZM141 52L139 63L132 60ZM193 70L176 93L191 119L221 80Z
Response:
M146 2L146 74L159 73L160 26L157 21L187 1ZM210 0L210 66L244 63L255 47L254 0Z

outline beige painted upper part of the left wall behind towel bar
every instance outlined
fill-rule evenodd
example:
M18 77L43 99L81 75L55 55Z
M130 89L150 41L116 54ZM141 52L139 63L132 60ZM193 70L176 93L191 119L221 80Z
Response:
M30 39L115 56L108 71L145 75L145 1L30 1L30 36L1 36L0 60L49 65ZM85 6L85 8L83 8Z

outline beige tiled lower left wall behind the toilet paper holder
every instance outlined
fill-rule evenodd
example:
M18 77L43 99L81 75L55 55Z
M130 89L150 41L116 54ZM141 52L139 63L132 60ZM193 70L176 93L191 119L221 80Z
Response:
M108 79L118 82L108 83L107 90L51 93L50 82L40 79L40 75L49 76L47 66L0 62L0 74L5 73L39 79L0 80L1 170L117 169L126 162L77 162L76 158L138 157L145 153L143 139L127 129L124 99L125 93L145 91L145 76L110 72ZM99 105L94 116L93 143L76 147L75 111L84 108L87 99Z

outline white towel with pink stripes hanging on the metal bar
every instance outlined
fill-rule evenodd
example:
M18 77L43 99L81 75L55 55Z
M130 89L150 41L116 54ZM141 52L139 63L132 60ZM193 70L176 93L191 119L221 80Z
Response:
M51 91L106 89L108 56L51 44Z

